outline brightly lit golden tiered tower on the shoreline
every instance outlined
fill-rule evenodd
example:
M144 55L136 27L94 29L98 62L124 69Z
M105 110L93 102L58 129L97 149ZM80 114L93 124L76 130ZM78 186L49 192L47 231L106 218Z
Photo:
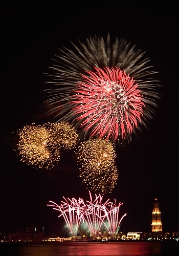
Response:
M159 210L159 203L156 201L153 203L152 211L152 232L162 231L161 212Z

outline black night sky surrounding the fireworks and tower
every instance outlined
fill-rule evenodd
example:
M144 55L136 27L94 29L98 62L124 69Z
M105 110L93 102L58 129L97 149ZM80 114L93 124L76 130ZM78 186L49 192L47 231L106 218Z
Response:
M5 2L5 1L4 1ZM124 2L124 1L123 1ZM158 198L163 230L179 230L178 218L178 13L169 2L65 1L63 4L23 5L1 3L1 86L2 154L0 231L25 230L44 226L47 234L58 231L57 212L47 207L49 200L60 203L66 198L88 199L80 184L73 151L63 152L52 170L34 169L19 161L13 151L16 133L26 124L51 121L46 115L43 92L57 48L71 48L70 40L99 34L111 40L125 37L136 49L146 51L155 78L163 88L159 109L149 131L127 148L117 148L119 180L113 193L105 196L121 201L121 216L127 212L121 229L150 231L154 198ZM49 2L50 3L50 2Z

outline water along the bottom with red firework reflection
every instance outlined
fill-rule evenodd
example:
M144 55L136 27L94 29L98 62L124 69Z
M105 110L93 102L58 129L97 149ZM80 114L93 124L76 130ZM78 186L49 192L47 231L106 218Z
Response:
M1 246L1 245L0 245ZM1 250L3 249L3 251ZM102 243L58 243L43 245L4 245L1 256L61 256L61 255L120 255L154 256L179 255L179 243L157 242L108 242Z

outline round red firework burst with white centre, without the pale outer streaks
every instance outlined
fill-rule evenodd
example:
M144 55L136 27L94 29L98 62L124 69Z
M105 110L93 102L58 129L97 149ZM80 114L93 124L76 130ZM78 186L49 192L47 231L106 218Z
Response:
M83 130L91 130L91 136L125 139L143 115L138 84L117 67L95 70L86 71L83 81L78 82L73 111Z

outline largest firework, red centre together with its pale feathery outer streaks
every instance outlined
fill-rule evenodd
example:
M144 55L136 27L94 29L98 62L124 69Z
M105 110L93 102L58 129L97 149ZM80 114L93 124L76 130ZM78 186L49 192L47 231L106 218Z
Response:
M52 67L48 104L56 105L59 120L72 121L83 138L99 136L119 143L131 140L152 118L159 85L151 77L142 50L135 51L125 39L110 45L102 37L86 39L75 52L65 49Z

